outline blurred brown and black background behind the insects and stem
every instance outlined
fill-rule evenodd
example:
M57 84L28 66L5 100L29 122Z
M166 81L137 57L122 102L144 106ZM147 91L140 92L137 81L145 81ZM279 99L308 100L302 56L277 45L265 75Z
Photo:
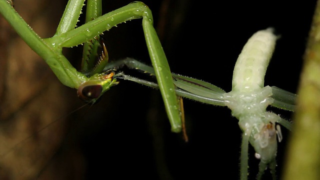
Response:
M52 36L65 0L15 0L15 9L41 37ZM103 0L104 13L131 1ZM315 0L145 0L171 71L231 89L246 40L274 27L281 35L265 84L296 91ZM104 33L110 60L150 64L141 20ZM66 49L77 65L78 48ZM184 100L189 142L170 132L157 90L121 81L92 106L59 83L45 62L0 16L0 179L238 178L240 130L226 107ZM291 113L271 109L290 119ZM72 112L72 113L70 113ZM279 143L281 173L287 131ZM250 177L258 161L251 149ZM217 167L214 165L217 164ZM268 178L266 174L266 179Z

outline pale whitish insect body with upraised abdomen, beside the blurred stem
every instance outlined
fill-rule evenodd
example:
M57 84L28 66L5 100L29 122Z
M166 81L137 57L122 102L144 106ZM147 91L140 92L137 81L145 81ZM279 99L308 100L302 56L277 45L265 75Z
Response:
M279 125L290 125L279 115L266 111L266 107L273 103L272 88L263 87L266 67L272 56L277 37L272 33L272 28L254 33L244 45L234 67L232 90L223 94L225 105L239 120L242 134L241 158L244 158L243 147L247 140L254 147L255 157L260 159L258 178L268 166L274 176L276 156L276 136L281 141L282 134ZM241 168L246 168L247 163ZM243 174L244 173L244 174ZM246 178L247 170L242 172ZM245 176L245 177L244 177ZM242 177L241 177L242 178Z

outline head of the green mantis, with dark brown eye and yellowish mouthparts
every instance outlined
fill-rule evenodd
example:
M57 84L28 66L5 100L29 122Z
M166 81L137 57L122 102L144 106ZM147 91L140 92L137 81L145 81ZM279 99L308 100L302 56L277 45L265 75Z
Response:
M85 102L94 103L106 90L118 83L113 76L113 70L92 75L78 87L78 97Z

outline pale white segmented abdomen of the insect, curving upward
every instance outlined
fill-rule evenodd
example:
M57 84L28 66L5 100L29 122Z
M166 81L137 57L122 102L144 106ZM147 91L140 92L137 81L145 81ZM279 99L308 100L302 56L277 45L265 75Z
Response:
M263 87L266 67L277 39L272 31L272 28L267 28L255 32L242 48L233 70L232 91Z

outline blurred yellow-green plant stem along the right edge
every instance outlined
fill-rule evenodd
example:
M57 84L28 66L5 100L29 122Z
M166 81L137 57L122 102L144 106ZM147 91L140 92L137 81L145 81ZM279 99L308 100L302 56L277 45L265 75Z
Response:
M310 29L282 179L320 179L320 0Z

